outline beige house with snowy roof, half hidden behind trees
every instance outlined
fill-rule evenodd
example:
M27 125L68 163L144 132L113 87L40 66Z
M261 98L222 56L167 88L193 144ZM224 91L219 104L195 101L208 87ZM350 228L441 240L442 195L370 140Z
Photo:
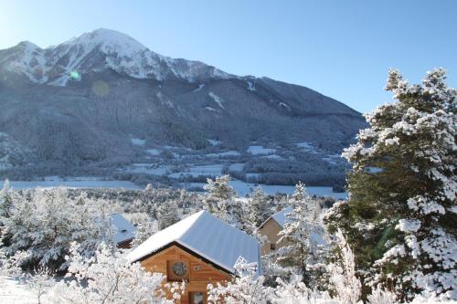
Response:
M285 245L283 242L279 242L280 236L278 236L278 234L286 223L287 214L292 211L292 207L284 208L280 212L271 215L262 225L260 225L260 234L262 236L267 236L268 238L268 242L261 247L262 256L275 252Z

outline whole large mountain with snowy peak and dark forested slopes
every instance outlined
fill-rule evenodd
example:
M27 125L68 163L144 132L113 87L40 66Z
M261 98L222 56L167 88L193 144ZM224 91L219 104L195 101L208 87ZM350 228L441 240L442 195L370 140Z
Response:
M313 89L167 58L107 29L56 47L26 41L0 50L0 106L0 173L27 176L43 171L38 164L104 174L133 162L210 158L261 167L275 179L316 172L344 179L335 154L365 126L356 110ZM252 154L250 146L276 153Z

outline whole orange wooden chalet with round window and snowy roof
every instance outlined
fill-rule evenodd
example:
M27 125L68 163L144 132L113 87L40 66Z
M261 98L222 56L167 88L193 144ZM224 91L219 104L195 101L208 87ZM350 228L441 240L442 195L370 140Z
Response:
M157 232L128 256L148 271L165 274L168 281L185 280L181 304L207 303L207 284L231 280L240 257L257 263L260 275L257 240L206 211Z

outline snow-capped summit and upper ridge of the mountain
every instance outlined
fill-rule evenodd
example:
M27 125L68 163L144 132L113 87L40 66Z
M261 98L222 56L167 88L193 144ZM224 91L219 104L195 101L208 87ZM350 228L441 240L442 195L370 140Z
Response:
M154 53L120 32L97 29L57 47L40 48L25 41L7 51L0 64L33 82L65 86L90 71L112 68L135 79L186 79L231 77L198 61L173 59Z

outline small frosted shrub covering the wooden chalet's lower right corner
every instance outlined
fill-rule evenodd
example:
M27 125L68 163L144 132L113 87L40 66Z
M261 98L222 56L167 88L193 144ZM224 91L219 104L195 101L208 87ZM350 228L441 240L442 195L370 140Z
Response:
M207 286L207 301L213 304L267 304L272 288L263 285L265 278L257 276L257 264L242 259L235 265L238 276L227 284Z

